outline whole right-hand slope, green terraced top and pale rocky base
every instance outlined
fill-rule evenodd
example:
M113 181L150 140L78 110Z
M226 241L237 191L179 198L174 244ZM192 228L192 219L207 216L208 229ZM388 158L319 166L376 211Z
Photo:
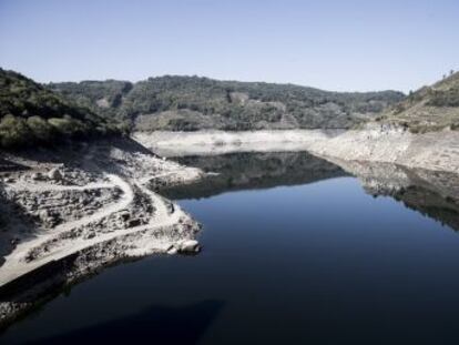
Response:
M411 93L376 121L314 143L310 151L459 173L459 73Z

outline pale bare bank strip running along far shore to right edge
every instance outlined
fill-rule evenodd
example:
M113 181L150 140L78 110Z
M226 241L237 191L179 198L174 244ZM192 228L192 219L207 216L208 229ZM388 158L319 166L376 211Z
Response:
M400 128L370 125L346 132L154 132L135 133L134 138L154 152L170 156L304 150L323 158L459 173L457 131L412 134Z

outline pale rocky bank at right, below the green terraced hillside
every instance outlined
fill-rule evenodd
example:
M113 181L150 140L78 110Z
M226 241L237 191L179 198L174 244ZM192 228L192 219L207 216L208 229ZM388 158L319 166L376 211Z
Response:
M308 151L343 161L394 163L459 173L459 132L449 129L414 134L400 126L370 124L317 141Z

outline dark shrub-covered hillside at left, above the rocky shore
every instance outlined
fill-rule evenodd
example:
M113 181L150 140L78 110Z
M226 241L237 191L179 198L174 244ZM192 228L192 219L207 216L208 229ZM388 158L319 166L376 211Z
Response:
M120 133L121 128L17 72L0 69L0 148Z

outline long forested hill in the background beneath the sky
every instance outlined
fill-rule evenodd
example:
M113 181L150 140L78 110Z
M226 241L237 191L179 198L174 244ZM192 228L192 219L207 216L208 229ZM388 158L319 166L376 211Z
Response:
M51 90L134 130L347 129L399 102L396 91L328 92L293 84L161 77L51 83Z

